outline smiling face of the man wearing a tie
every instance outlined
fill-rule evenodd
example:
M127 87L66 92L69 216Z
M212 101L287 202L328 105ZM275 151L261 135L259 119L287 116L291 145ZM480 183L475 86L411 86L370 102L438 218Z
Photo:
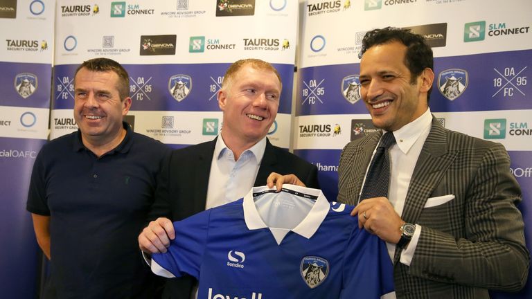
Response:
M360 94L373 125L395 131L427 111L427 91L434 73L425 69L412 80L405 65L407 47L400 42L369 48L360 60Z

